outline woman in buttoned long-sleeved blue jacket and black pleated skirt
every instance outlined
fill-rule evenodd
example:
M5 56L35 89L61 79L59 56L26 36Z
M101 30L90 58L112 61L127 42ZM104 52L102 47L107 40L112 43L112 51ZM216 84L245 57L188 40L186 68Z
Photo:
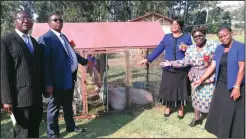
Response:
M155 60L164 50L164 59L169 61L181 60L185 56L185 48L192 44L191 36L182 32L184 22L174 19L170 34L166 34L160 44L144 60L137 65L145 65ZM163 67L162 81L159 91L159 101L166 106L164 116L171 114L171 106L179 107L178 117L184 117L184 106L188 100L188 67Z

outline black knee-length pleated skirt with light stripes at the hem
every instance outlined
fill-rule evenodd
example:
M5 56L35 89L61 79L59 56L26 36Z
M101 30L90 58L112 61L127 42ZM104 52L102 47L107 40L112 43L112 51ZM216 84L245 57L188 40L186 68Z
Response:
M159 102L164 106L185 106L188 100L187 71L167 71L163 69L159 91Z

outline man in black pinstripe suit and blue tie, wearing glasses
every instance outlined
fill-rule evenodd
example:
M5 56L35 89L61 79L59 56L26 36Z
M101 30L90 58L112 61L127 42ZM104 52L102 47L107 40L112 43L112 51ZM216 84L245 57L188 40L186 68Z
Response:
M28 33L33 20L17 12L15 31L1 38L1 102L17 125L14 136L38 138L43 104L43 50Z

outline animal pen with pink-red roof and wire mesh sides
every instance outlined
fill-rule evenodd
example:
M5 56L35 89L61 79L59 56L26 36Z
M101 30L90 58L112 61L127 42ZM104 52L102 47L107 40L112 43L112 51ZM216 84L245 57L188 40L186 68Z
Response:
M85 58L89 54L95 55L102 82L101 89L96 90L93 82L89 80L91 76L87 67L79 65L74 91L75 118L90 118L88 106L93 105L91 101L100 101L104 104L104 112L112 111L110 104L116 99L110 100L111 88L120 88L125 92L124 110L133 110L141 106L135 102L145 98L136 95L139 94L137 89L149 92L153 100L151 104L155 104L162 73L159 66L162 56L144 67L136 64L144 59L164 36L159 23L96 22L64 23L63 26L62 32L69 40L75 42L77 53ZM48 29L47 23L35 23L32 36L38 38ZM89 100L95 96L100 99Z

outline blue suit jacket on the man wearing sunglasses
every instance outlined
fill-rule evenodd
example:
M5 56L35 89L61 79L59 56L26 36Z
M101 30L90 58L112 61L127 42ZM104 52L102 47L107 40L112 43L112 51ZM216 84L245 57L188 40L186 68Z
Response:
M72 89L74 80L69 57L59 38L54 32L49 30L39 37L38 42L44 48L45 86L53 86L57 90ZM76 57L78 63L82 65L87 64L87 59L84 59L77 53Z

